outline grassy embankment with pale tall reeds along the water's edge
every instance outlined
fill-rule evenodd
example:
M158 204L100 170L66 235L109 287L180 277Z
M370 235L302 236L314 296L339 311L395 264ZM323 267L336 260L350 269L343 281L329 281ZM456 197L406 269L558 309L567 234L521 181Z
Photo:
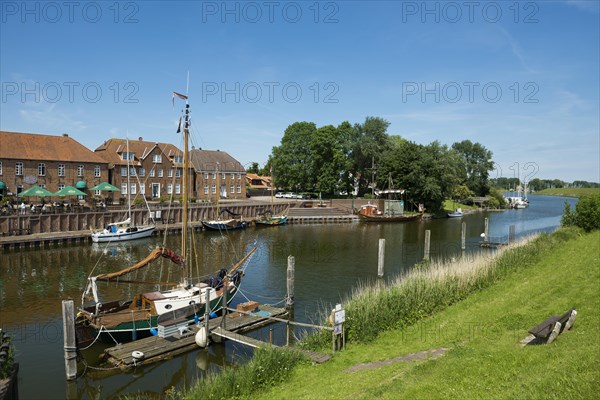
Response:
M491 261L415 271L385 290L360 288L345 303L353 343L328 363L285 370L292 356L263 350L262 362L180 396L592 398L600 390L600 233L577 232L543 235ZM571 331L551 345L518 345L529 328L573 306ZM448 349L438 359L386 362L438 348ZM374 364L347 371L360 363Z

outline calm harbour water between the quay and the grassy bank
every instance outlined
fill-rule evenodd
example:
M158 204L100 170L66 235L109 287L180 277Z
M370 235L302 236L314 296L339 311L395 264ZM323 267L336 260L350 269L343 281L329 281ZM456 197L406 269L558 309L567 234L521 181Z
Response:
M479 252L478 243L489 219L491 241L506 241L510 225L517 237L552 231L560 224L565 201L575 199L530 196L524 210L476 213L461 219L438 219L405 224L324 224L250 228L228 235L196 234L194 273L204 275L231 265L256 243L258 251L246 270L241 293L246 298L282 305L286 294L287 257L296 258L294 318L316 322L317 311L330 309L359 282L376 279L379 238L386 239L386 279L409 269L423 257L425 230L431 230L431 257L451 259L460 255L461 221L467 223L467 252ZM87 369L84 377L67 384L64 377L61 300L81 302L86 278L134 264L165 241L178 249L179 237L153 237L118 245L70 245L0 253L0 327L14 337L20 363L19 389L23 399L111 398L144 392L147 395L180 388L207 371L243 362L251 350L227 343L209 350L187 353L160 364L129 373ZM165 262L139 272L138 279L178 280L179 271ZM133 285L101 288L106 298L130 297L148 289ZM151 288L152 289L152 288ZM284 340L285 329L273 327L275 340ZM302 332L295 332L296 335ZM266 340L268 331L254 336ZM88 363L100 348L86 351ZM80 365L81 368L81 365ZM81 368L82 369L82 368ZM80 372L81 372L80 369Z

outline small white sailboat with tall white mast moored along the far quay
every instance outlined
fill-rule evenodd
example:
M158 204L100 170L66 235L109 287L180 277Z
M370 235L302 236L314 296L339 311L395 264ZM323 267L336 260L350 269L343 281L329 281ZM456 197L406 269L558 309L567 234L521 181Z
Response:
M113 222L108 224L102 230L92 230L92 242L122 242L125 240L141 239L152 236L156 230L156 225L136 226L131 219L131 184L129 177L131 176L129 168L129 139L127 140L127 219L125 221ZM146 204L147 205L147 204ZM148 208L148 212L150 209Z

